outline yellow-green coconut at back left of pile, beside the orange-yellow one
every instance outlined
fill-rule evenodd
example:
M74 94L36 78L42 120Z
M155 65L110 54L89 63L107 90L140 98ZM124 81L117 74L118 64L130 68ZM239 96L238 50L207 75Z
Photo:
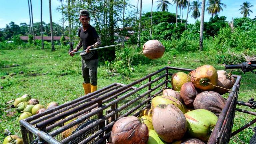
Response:
M171 85L173 90L180 91L181 86L190 82L190 76L184 72L177 72L172 75Z

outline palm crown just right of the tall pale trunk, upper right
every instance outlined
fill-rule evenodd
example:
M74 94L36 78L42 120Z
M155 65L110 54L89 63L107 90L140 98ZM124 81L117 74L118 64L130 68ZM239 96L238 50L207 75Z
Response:
M221 0L209 0L207 6L206 10L212 17L220 11L223 11L221 6L224 6L225 8L227 7L225 4L221 3Z

